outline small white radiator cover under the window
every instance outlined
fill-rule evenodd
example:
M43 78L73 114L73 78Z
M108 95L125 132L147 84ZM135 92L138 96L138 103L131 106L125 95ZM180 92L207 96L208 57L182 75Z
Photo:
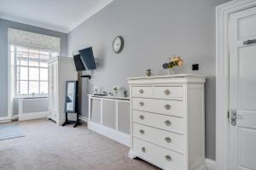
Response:
M30 120L46 117L48 114L48 98L18 99L19 120Z

